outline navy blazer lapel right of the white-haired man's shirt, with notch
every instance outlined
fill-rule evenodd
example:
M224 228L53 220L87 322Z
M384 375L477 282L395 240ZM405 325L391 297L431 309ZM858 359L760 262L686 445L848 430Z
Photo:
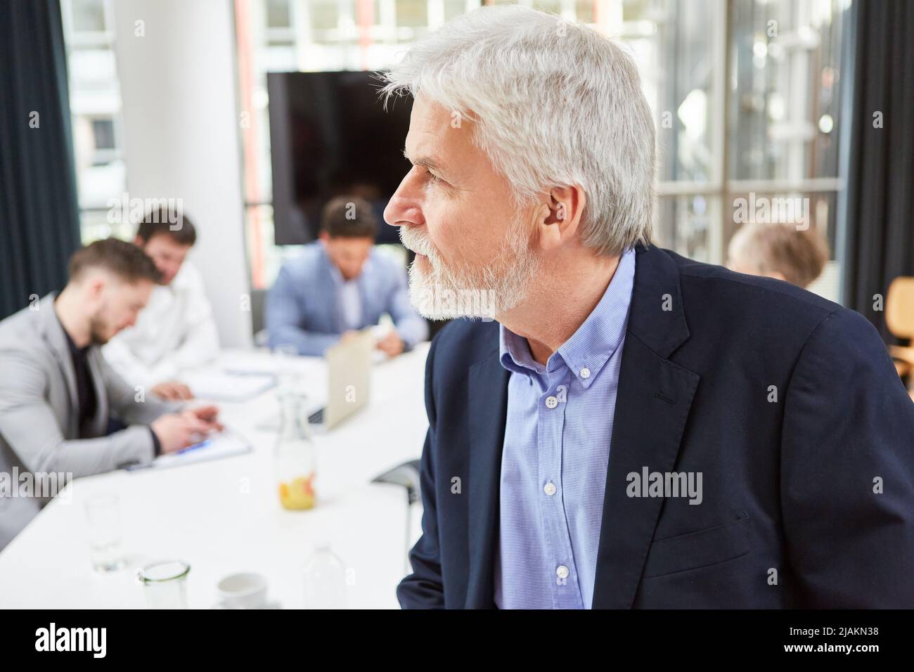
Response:
M656 248L638 250L612 427L593 608L629 609L662 497L630 497L627 475L675 469L699 376L669 361L688 338L679 272Z

